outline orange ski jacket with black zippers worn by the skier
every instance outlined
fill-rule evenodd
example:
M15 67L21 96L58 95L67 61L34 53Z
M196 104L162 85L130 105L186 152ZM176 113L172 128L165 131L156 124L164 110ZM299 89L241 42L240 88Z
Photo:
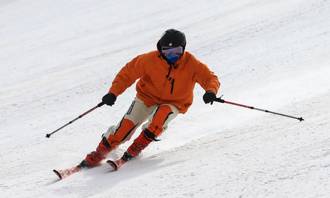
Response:
M161 57L159 41L157 48L128 62L117 74L109 93L117 97L140 78L136 84L136 97L148 108L172 104L184 114L192 104L196 82L207 91L218 92L218 77L191 53L184 51L173 64Z

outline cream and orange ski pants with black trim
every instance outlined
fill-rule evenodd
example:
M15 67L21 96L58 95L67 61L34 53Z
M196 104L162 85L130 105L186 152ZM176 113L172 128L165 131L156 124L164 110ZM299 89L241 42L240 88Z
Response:
M155 137L167 129L168 123L179 114L177 107L171 104L153 105L149 108L135 98L132 105L117 125L110 126L102 138L115 149L119 144L131 139L135 130L148 119L142 130L148 129Z

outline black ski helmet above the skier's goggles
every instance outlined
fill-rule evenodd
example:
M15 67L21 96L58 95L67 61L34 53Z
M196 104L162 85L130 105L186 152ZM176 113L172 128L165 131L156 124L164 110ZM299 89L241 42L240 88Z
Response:
M186 46L185 35L181 30L168 29L160 37L161 47L182 47L182 53Z

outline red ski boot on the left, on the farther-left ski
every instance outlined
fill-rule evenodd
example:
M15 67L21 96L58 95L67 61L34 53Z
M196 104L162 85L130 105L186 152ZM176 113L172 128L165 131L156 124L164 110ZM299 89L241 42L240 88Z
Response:
M87 154L85 160L90 166L96 166L101 160L107 157L110 151L112 151L112 148L107 144L105 139L102 139L96 150Z

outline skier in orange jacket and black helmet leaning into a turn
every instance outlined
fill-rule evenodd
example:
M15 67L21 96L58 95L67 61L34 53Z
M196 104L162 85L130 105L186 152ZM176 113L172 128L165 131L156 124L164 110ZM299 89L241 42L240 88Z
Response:
M181 30L166 30L157 43L157 50L141 54L127 63L117 74L102 101L114 105L137 79L137 95L127 113L115 126L109 127L95 151L87 154L80 164L96 166L110 151L128 141L142 126L141 134L121 157L128 161L139 155L152 141L167 129L168 123L179 113L184 114L193 101L195 83L205 90L205 104L213 104L220 83L217 76L191 53L184 51L186 37Z

